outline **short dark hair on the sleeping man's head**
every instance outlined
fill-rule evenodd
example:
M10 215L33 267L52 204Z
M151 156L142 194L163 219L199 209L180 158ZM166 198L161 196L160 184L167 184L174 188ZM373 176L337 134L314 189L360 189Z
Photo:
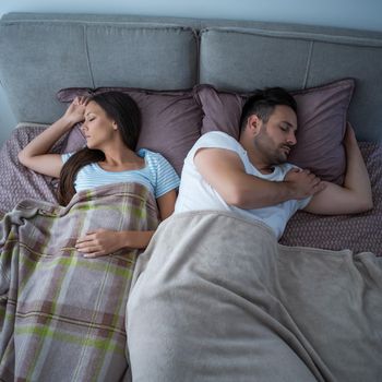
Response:
M297 112L296 100L285 88L266 87L264 89L256 89L242 107L240 131L247 126L248 118L253 115L266 123L277 105L289 106Z

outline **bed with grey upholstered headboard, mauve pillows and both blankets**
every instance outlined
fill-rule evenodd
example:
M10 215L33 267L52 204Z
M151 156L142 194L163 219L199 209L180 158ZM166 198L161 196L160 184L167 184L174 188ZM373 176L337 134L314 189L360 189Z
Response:
M19 121L0 150L1 380L380 379L381 33L9 13L0 52L0 81ZM160 152L180 175L201 134L237 136L242 103L264 86L293 92L299 131L290 159L323 179L343 181L342 141L353 124L372 211L299 212L277 243L267 227L214 211L159 224L140 184L79 193L62 207L57 182L17 162L76 95L117 88L141 108L139 146ZM83 144L75 127L52 150ZM140 218L126 218L131 211ZM158 230L144 253L83 259L75 237L98 225Z

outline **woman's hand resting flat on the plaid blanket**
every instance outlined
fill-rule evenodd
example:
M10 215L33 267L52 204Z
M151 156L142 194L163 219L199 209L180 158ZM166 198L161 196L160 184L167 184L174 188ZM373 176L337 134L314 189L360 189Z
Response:
M97 258L111 254L124 247L121 234L123 232L103 228L96 229L79 238L75 248L79 252L84 254L84 258Z

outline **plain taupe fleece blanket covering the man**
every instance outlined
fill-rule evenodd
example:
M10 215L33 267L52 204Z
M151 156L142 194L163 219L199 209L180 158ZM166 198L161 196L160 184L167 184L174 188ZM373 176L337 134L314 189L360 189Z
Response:
M228 213L165 220L127 312L134 382L381 380L382 258L284 247Z

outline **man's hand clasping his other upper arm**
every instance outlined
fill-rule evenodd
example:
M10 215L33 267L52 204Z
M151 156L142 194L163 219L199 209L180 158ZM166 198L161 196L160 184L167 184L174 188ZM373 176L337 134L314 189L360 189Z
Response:
M293 199L296 200L312 196L325 188L325 183L307 169L291 168L285 176L284 181L290 186L294 194Z

